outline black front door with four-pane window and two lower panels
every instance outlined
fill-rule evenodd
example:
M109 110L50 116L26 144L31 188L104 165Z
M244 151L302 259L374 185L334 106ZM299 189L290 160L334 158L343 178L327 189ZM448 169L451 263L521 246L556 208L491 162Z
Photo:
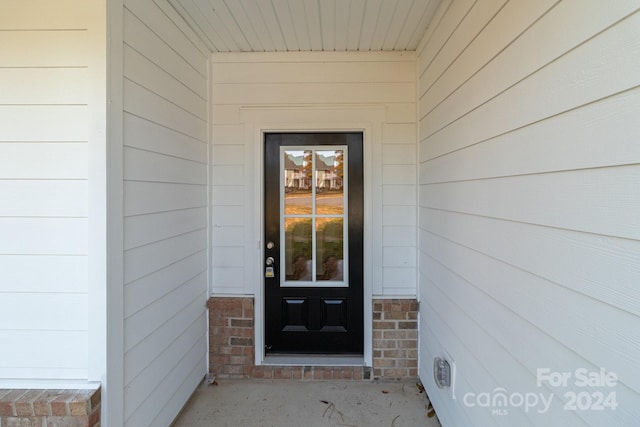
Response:
M362 354L362 142L265 134L267 354Z

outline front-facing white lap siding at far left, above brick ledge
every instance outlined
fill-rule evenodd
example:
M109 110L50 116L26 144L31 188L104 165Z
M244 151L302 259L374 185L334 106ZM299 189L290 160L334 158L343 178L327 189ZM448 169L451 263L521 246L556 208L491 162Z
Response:
M88 378L89 20L0 4L2 379Z

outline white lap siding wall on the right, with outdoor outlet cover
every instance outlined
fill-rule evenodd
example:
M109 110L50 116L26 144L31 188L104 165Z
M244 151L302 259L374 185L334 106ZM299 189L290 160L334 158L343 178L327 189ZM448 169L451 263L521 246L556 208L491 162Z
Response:
M420 45L420 376L445 426L640 423L638 6L444 1ZM576 385L601 367L615 387ZM555 397L465 404L498 387ZM619 406L563 410L567 391Z

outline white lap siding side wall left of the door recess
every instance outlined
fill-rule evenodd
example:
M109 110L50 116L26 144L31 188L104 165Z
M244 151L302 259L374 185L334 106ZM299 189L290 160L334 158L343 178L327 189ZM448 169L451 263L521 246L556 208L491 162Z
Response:
M207 56L165 1L124 8L125 425L168 426L206 373Z

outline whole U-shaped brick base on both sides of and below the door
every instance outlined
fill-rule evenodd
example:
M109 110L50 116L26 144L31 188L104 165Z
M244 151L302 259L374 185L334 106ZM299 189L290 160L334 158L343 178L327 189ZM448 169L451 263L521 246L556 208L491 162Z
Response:
M218 378L313 380L415 379L418 303L373 301L373 376L365 366L254 366L254 306L249 297L209 299L209 372ZM4 426L0 426L4 427Z

